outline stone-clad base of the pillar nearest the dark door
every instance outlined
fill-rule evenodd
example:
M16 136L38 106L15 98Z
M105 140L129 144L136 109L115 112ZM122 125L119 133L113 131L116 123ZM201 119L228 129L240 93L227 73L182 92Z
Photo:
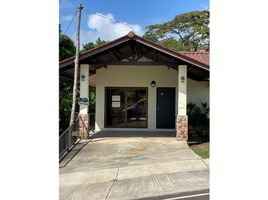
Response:
M180 141L187 141L188 139L188 116L177 115L176 119L176 138Z

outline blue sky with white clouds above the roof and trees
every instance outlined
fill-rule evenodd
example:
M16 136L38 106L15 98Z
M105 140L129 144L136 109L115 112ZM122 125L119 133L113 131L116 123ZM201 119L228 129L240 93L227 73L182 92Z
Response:
M209 9L209 0L59 0L62 33L73 40L79 3L84 6L81 44L95 42L98 37L111 41L129 31L142 36L146 26L164 23L181 13Z

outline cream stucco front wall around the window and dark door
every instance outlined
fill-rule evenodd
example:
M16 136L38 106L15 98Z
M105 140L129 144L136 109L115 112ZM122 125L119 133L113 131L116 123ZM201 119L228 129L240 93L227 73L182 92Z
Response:
M156 81L156 87L151 81ZM201 84L200 84L201 83ZM208 83L187 81L187 102L208 100ZM108 66L96 72L95 130L104 128L105 87L148 87L148 129L156 129L156 88L175 87L177 102L178 72L166 66ZM196 87L196 89L193 89ZM207 95L207 97L205 97ZM177 103L176 112L177 113Z

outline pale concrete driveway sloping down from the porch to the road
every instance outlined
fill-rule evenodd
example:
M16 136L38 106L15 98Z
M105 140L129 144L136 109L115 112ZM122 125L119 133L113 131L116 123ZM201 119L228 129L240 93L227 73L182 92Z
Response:
M209 188L206 162L172 133L99 133L81 141L60 166L60 199L66 200L139 199Z

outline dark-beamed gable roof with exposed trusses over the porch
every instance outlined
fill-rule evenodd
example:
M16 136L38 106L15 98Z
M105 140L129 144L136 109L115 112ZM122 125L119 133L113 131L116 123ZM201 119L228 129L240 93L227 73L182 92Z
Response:
M142 57L152 61L139 61ZM97 69L107 65L165 65L177 70L178 65L185 64L188 66L189 78L198 81L209 78L209 65L152 43L133 32L81 54L79 63L89 64L90 74L95 74ZM59 71L61 76L73 79L74 57L61 61Z

